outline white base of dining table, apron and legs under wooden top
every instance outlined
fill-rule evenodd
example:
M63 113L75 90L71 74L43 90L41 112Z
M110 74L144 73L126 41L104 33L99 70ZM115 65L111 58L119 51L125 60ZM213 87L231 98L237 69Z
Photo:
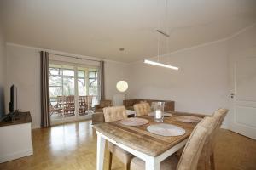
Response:
M142 159L146 163L146 170L160 170L160 162L164 161L168 156L171 156L177 150L181 149L188 139L184 139L179 144L174 145L171 149L166 150L160 156L148 156L141 151L133 150L130 147L117 143L113 139L108 138L107 136L103 135L102 133L97 133L97 158L96 158L96 170L103 170L103 161L104 161L104 151L105 151L105 141L106 139L119 146L123 150L130 152L132 155L137 156L138 158Z

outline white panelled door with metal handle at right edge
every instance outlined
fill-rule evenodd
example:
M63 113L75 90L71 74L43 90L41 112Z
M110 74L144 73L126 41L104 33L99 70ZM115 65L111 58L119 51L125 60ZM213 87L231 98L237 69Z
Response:
M231 130L256 139L256 57L232 62Z

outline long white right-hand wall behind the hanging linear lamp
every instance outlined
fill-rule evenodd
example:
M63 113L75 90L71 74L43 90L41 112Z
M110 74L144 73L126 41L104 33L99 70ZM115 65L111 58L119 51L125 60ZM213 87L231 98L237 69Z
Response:
M179 66L179 71L146 65L142 61L131 66L131 98L174 100L176 111L205 114L227 107L225 42L190 48L169 56L164 59Z

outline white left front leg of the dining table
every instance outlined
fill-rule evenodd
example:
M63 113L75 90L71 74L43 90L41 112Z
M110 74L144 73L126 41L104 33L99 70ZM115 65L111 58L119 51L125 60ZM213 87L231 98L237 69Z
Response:
M105 151L105 139L101 134L97 134L97 162L96 170L103 170L104 162L104 151Z

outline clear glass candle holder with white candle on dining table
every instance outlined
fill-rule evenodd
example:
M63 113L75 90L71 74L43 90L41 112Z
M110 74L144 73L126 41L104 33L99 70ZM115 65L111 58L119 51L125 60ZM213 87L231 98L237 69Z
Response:
M164 122L165 102L152 102L154 111L154 122Z

